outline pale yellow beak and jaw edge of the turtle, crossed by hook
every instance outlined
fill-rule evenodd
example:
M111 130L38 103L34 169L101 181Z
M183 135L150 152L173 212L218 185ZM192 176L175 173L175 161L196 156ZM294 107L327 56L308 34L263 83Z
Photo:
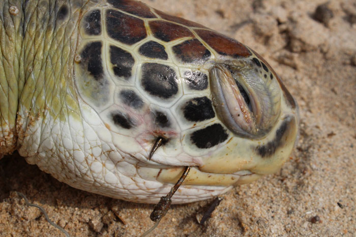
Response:
M282 108L285 103L283 101ZM201 157L185 185L228 187L253 182L263 175L277 172L288 159L298 134L298 114L289 110L260 140L233 138L214 154ZM155 168L140 166L138 174L145 180L174 184L184 166Z

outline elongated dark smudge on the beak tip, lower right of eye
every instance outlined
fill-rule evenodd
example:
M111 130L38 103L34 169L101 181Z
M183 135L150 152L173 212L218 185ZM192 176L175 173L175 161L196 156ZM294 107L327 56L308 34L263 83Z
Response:
M281 124L281 126L276 131L276 137L273 141L267 143L266 145L257 147L257 153L262 158L273 155L276 152L277 148L279 148L283 144L282 138L289 128L289 122L290 120L287 119Z

